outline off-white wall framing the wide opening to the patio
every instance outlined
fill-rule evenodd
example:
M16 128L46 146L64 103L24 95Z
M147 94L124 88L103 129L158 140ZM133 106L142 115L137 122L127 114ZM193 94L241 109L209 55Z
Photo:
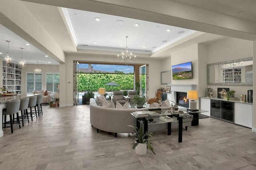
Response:
M66 63L60 64L60 106L73 106L73 61L95 61L108 63L122 63L121 59L110 55L70 54L66 56ZM149 98L155 97L160 87L161 61L138 57L132 63L149 65ZM63 78L63 75L66 78ZM65 92L63 94L62 92ZM65 97L66 96L66 97ZM65 101L64 101L65 100Z

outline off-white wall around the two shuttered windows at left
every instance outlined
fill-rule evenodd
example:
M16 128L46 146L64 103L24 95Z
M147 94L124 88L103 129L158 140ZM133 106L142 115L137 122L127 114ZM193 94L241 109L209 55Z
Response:
M34 73L37 64L26 64L22 69L22 94L26 94L26 74ZM46 90L46 73L59 73L58 65L38 64L38 68L42 69L42 90Z

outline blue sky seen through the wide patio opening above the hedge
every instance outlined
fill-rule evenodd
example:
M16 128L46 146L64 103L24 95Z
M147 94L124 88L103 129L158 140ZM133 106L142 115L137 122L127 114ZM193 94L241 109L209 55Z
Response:
M114 72L115 70L122 71L124 73L134 72L134 66L125 65L106 65L106 64L92 64L93 69ZM79 64L79 68L88 68L88 64Z

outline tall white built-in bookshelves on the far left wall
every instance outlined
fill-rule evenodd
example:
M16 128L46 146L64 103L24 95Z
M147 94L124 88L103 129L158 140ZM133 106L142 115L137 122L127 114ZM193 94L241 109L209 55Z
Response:
M21 94L22 70L18 64L12 63L10 66L3 61L3 91L14 94Z

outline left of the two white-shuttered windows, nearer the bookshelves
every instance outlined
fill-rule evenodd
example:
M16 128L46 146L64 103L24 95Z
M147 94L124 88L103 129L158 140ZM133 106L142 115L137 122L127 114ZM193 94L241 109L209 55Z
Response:
M33 93L34 90L42 90L42 74L27 74L27 93Z

